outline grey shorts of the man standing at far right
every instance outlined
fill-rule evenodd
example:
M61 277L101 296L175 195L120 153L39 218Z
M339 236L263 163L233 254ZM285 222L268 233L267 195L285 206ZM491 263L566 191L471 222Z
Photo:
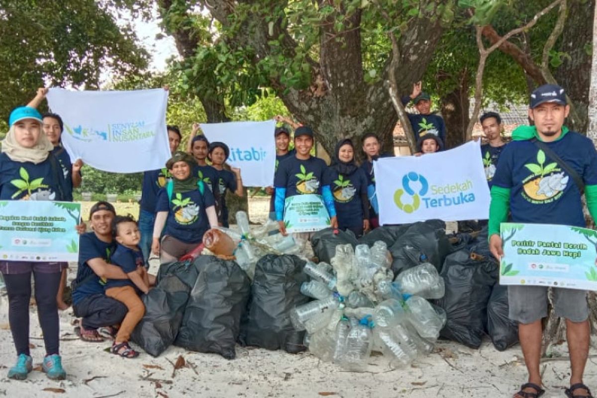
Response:
M509 317L520 323L533 323L547 316L547 287L508 286ZM571 322L584 322L589 317L587 291L565 288L553 289L556 316Z

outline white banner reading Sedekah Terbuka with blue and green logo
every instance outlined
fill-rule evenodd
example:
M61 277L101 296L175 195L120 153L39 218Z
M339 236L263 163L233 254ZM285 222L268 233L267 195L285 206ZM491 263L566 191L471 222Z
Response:
M489 217L490 192L478 142L422 156L373 162L380 224Z

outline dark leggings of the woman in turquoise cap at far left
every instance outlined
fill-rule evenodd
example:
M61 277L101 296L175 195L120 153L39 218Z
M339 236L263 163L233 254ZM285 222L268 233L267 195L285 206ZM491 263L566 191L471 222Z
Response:
M8 292L8 322L13 332L14 347L17 355L29 355L29 300L31 298L31 271L22 274L4 274ZM35 301L38 307L38 319L44 334L47 355L59 354L60 326L56 295L60 285L61 273L42 273L33 271L35 278Z

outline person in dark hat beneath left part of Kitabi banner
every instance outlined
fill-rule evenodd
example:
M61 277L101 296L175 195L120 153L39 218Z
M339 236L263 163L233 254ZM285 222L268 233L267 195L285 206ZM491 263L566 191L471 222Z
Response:
M228 146L220 141L215 141L210 144L209 158L211 165L218 172L218 189L220 191L220 216L218 221L220 226L228 227L228 208L226 207L226 191L234 192L236 196L242 198L243 187L241 180L241 169L231 167L228 171L224 169L224 163L230 156L230 149Z

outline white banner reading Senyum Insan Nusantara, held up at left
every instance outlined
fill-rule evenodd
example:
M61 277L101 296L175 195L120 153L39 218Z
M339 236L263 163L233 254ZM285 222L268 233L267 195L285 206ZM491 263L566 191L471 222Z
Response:
M51 88L52 112L64 121L62 143L70 159L111 172L164 167L168 91L67 91Z

